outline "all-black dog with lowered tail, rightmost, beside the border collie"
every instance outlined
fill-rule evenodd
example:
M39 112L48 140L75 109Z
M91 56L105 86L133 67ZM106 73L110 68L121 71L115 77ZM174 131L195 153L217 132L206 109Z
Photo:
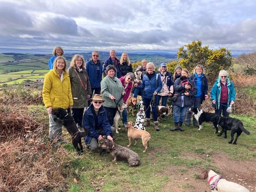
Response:
M242 132L250 135L250 132L248 132L248 130L244 128L242 121L235 118L221 117L219 121L219 126L222 127L222 131L218 134L218 136L221 136L224 132L224 138L227 138L227 130L231 130L231 140L229 141L230 144L233 142L235 133L237 133L237 137L233 142L233 144L235 145L237 144L237 138L241 135Z

